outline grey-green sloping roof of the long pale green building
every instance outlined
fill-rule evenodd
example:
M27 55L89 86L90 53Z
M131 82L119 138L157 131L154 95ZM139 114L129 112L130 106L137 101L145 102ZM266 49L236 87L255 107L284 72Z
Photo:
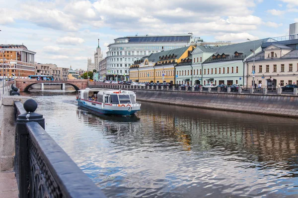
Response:
M234 54L236 51L238 53L242 53L239 56L226 56L224 58L220 58L220 59L213 59L212 57L209 57L207 60L205 60L205 62L213 62L213 61L225 61L225 60L231 60L231 59L244 59L246 56L250 55L252 52L250 51L252 50L256 50L259 47L262 46L263 42L266 42L268 40L267 39L260 39L260 40L255 40L255 41L248 41L248 42L244 42L244 43L238 43L238 44L232 44L232 45L228 45L228 46L221 46L218 47L217 50L217 54Z

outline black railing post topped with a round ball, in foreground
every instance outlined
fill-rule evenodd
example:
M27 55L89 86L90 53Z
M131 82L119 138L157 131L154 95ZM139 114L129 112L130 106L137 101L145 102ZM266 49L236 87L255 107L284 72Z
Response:
M15 144L15 175L19 186L19 197L28 198L30 163L29 163L29 145L27 122L37 122L42 128L45 128L45 119L43 115L34 113L37 103L33 99L27 99L24 102L26 113L20 114L16 119L16 144Z

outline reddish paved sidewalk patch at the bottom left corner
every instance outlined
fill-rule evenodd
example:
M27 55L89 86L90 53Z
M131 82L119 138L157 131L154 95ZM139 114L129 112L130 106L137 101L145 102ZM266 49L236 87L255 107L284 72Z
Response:
M14 171L0 172L0 198L18 198Z

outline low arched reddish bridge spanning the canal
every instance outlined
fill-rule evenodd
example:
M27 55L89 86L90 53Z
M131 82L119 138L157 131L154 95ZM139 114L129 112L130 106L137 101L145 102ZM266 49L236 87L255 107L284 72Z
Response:
M65 84L68 84L72 85L76 91L88 87L87 79L69 79L66 81L38 81L36 79L15 79L15 86L19 89L20 92L28 91L32 85L38 83L41 84L41 88L43 88L43 83L61 84L61 89L65 89Z

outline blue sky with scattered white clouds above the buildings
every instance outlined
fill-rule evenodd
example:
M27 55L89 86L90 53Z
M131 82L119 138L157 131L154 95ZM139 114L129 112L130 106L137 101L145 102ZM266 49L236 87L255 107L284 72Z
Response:
M35 61L87 69L100 39L192 32L206 42L289 35L298 0L0 0L0 44L23 44Z

